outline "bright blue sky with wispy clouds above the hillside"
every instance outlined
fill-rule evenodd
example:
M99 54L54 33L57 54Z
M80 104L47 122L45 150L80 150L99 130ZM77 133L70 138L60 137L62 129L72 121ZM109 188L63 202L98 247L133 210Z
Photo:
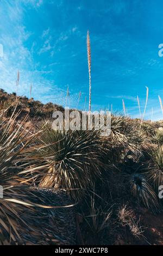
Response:
M163 2L160 0L1 0L0 87L44 103L88 107L86 33L92 54L92 109L122 111L122 99L131 117L139 117L149 100L146 119L162 119L158 94L163 100Z

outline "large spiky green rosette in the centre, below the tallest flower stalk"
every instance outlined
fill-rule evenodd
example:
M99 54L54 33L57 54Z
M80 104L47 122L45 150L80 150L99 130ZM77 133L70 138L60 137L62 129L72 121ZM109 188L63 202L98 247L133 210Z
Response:
M59 131L46 126L41 143L33 154L34 168L46 172L40 186L63 188L79 200L100 174L98 132Z

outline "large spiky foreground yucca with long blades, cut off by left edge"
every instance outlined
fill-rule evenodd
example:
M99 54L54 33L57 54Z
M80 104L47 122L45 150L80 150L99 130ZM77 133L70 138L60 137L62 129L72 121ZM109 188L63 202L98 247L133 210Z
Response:
M71 231L68 240L63 232L68 218L63 218L66 212L62 206L66 205L61 197L28 186L33 178L24 153L35 142L35 135L27 130L27 118L17 122L18 114L6 119L4 112L0 113L0 245L70 243ZM57 220L64 221L62 234L54 228Z

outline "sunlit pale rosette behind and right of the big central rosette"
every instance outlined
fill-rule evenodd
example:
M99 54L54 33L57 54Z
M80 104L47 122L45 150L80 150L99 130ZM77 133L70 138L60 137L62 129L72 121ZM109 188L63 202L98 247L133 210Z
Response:
M108 149L111 162L120 161L122 154L129 150L140 156L147 146L147 137L135 127L133 120L123 115L111 115L111 133L103 139L103 147Z

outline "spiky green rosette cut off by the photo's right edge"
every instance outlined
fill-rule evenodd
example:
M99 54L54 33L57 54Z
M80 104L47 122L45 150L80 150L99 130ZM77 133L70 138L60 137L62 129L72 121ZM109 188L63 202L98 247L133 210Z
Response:
M149 179L154 182L156 189L163 184L163 146L149 151L150 166L148 170Z

